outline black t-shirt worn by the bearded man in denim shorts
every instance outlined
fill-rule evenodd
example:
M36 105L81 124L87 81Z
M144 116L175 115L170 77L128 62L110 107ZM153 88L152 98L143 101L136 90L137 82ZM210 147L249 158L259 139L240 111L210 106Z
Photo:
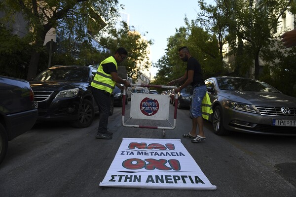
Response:
M202 78L201 66L200 66L199 62L195 58L190 57L187 60L187 68L186 68L186 70L187 70L187 74L188 74L188 70L194 70L193 81L190 84L192 87L194 87L196 84L205 85L205 82L204 82L204 80Z

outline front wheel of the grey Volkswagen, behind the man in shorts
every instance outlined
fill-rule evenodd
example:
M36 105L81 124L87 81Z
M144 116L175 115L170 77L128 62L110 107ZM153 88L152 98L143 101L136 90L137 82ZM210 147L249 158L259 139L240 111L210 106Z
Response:
M223 127L223 116L222 116L222 108L221 106L216 106L213 112L213 128L214 132L217 135L228 135L229 131L225 130Z

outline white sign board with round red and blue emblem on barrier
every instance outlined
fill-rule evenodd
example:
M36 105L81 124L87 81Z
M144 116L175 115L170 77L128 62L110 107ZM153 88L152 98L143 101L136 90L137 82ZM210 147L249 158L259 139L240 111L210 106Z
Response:
M134 119L168 120L170 99L167 95L134 93L130 117Z

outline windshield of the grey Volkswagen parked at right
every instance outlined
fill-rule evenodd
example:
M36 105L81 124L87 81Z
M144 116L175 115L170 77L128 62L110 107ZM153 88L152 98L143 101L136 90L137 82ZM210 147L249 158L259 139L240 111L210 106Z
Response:
M218 78L218 86L221 90L238 90L238 91L252 91L252 92L274 92L278 93L276 89L267 83L244 78Z

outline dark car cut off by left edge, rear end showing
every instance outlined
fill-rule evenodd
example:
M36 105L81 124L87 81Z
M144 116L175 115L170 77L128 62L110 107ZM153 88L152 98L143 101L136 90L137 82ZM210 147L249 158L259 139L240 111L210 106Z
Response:
M0 76L0 164L6 155L8 141L29 131L37 116L29 82Z

